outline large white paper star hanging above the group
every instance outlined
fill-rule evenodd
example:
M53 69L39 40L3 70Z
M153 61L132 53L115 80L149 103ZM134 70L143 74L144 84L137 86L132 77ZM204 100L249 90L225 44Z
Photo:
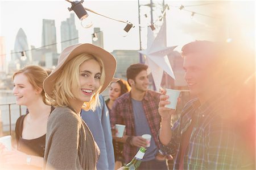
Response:
M168 59L168 54L170 54L174 48L166 47L166 19L164 18L164 22L158 35L154 38L154 32L150 27L147 29L147 49L139 51L146 56L146 65L151 70L152 77L155 82L156 90L160 89L160 85L162 82L163 71L169 74L175 80L174 72L172 71L172 67L170 61ZM149 72L150 73L150 72Z

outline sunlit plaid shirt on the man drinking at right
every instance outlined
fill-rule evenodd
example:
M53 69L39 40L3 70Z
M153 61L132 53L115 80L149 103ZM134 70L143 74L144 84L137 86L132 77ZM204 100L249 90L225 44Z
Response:
M179 169L181 136L191 125L194 114L195 125L184 154L184 169L238 169L241 159L237 135L230 122L222 117L225 106L221 97L200 107L198 103L198 99L187 103L172 127L171 142L167 146L160 143L160 148L176 154L174 169Z

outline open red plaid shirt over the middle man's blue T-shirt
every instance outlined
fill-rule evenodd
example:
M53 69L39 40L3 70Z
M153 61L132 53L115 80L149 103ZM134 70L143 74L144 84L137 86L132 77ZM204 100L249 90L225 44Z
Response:
M142 99L144 113L150 127L152 138L158 148L159 143L157 136L160 128L160 115L158 113L159 97L160 93L147 90ZM130 92L123 94L115 100L111 114L110 122L112 127L115 126L115 124L126 125L126 135L135 136L134 114ZM125 157L125 163L128 163L133 159L137 150L137 147L131 146L129 143L124 144L123 156Z

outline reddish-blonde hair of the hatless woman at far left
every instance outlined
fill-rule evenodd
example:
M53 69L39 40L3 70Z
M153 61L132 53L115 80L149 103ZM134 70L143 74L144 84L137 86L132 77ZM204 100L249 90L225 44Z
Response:
M20 69L19 71L16 71L13 74L13 80L17 74L23 73L27 78L28 82L33 86L34 89L42 90L41 96L43 98L43 102L46 105L49 105L49 99L46 96L46 93L43 89L43 81L48 76L48 73L46 70L44 70L42 67L38 65L28 65L24 67L23 69Z

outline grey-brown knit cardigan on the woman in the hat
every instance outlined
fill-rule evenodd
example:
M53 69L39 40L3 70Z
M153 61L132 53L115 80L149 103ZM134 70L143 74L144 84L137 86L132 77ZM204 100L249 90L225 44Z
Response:
M56 107L49 116L44 169L96 169L100 150L80 115Z

